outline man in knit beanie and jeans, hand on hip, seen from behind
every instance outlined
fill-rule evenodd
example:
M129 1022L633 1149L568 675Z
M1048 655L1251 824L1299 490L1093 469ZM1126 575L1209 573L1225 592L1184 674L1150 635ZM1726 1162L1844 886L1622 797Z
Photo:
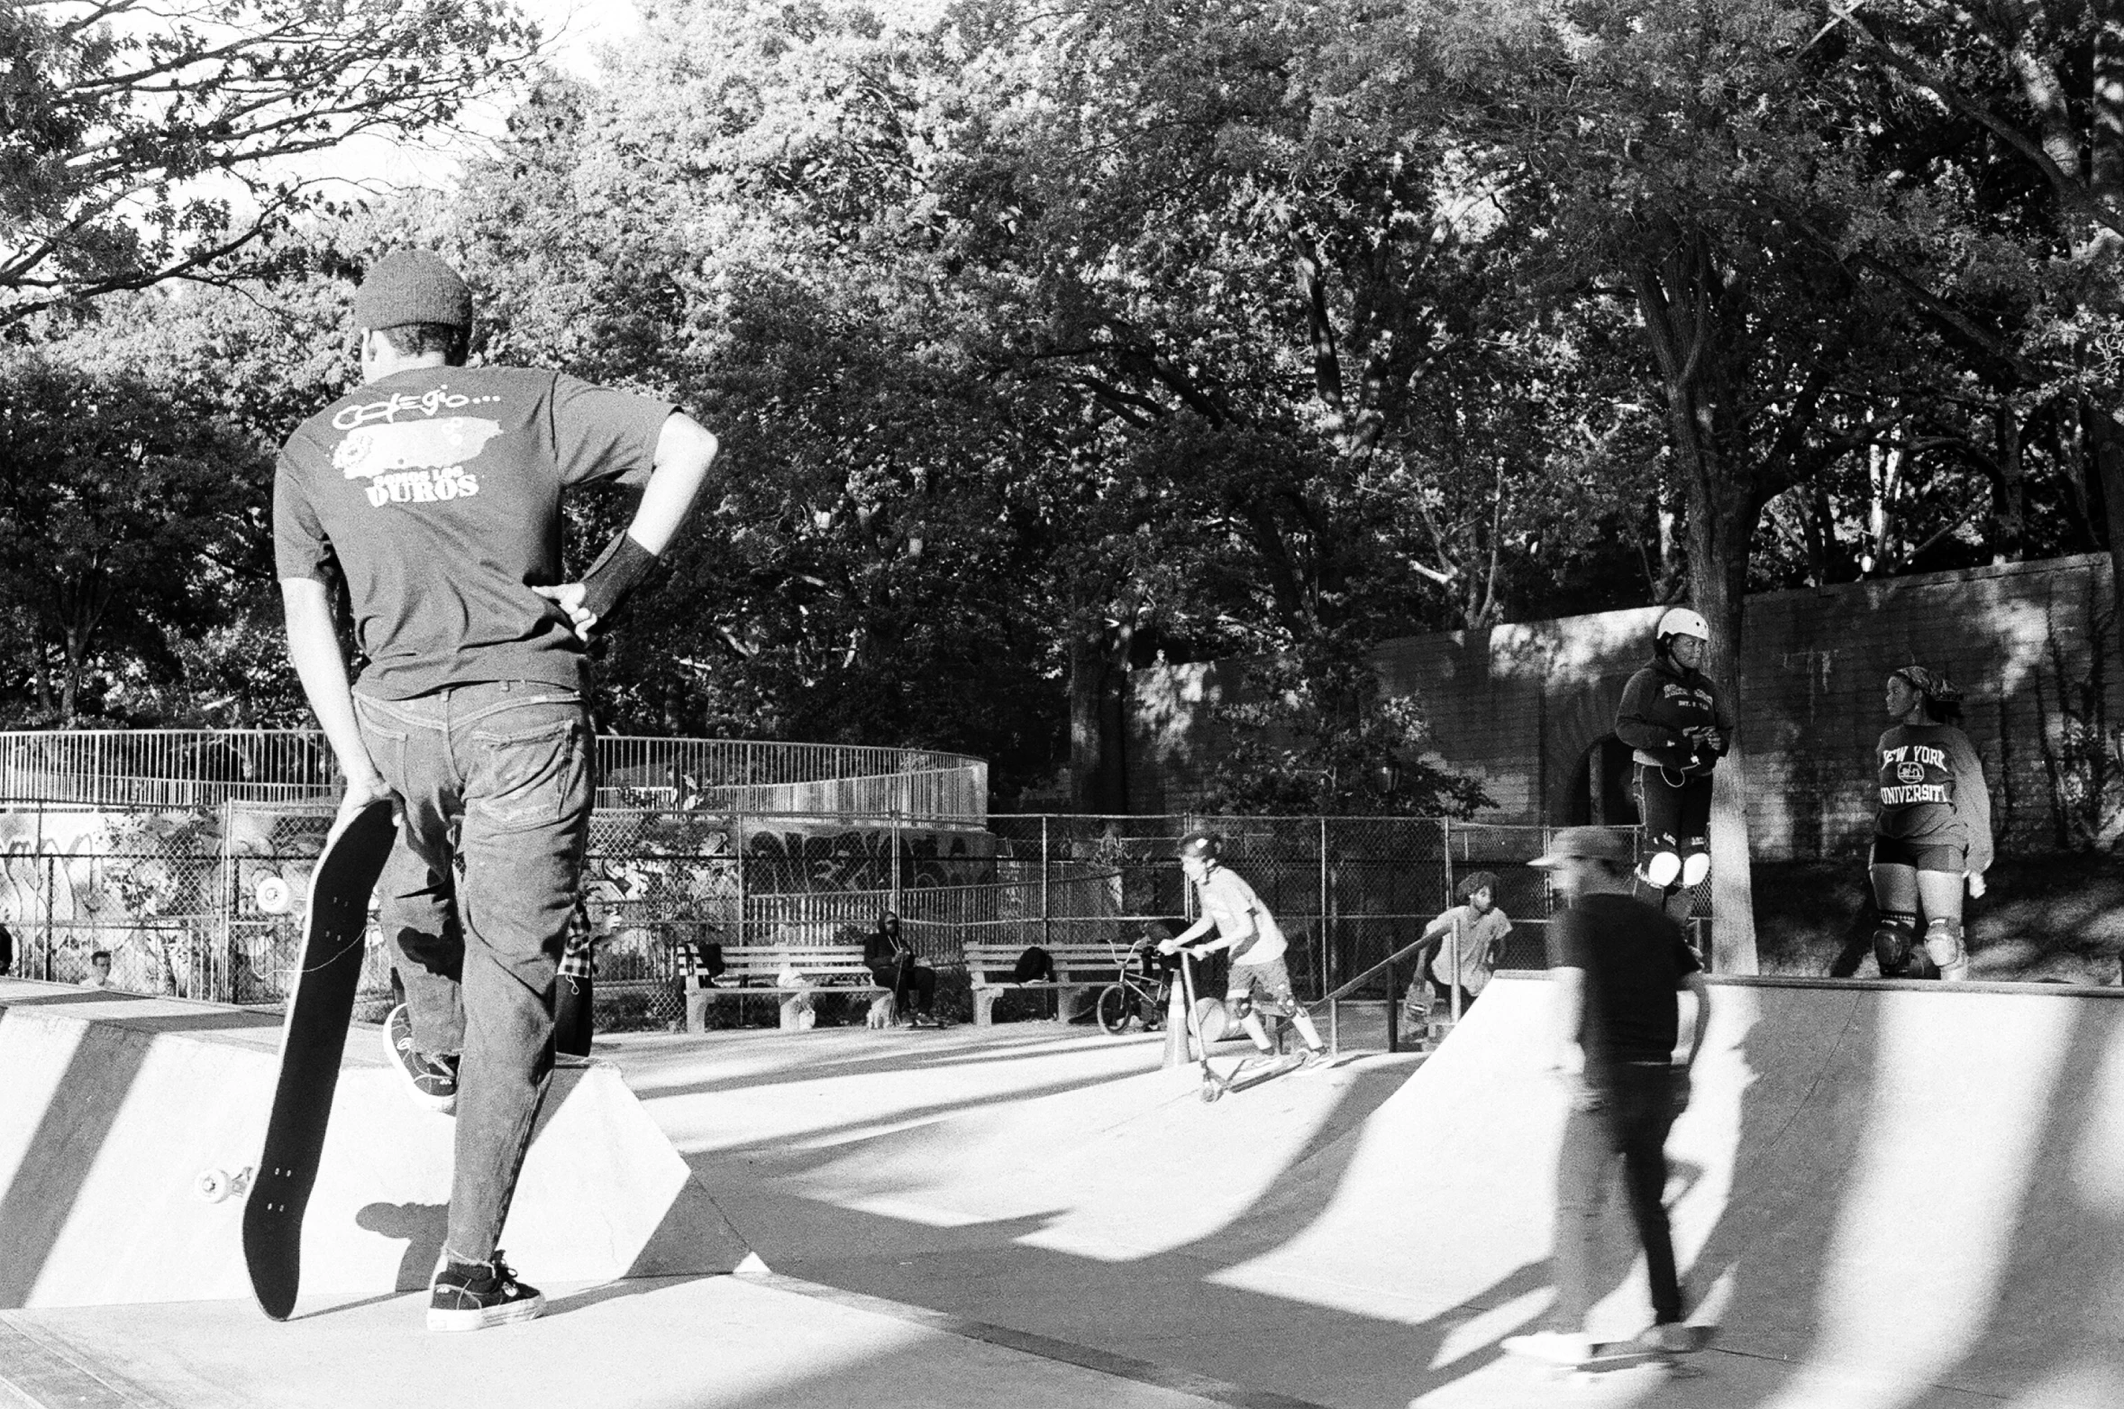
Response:
M384 1031L416 1099L457 1114L427 1324L478 1330L544 1307L495 1243L552 1071L595 795L584 642L678 531L716 438L652 397L467 368L472 291L427 251L370 268L355 325L363 387L282 446L274 548L342 820L382 799L401 814L378 895L408 1005ZM641 504L561 582L561 495L599 480L641 485ZM336 580L367 657L357 686Z

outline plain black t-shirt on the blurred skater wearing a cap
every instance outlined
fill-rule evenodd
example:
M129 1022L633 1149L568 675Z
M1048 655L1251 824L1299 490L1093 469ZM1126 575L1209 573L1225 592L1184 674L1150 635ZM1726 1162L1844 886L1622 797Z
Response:
M1703 965L1665 912L1629 895L1585 895L1548 922L1548 963L1587 975L1578 1041L1589 1067L1674 1058L1674 992Z

